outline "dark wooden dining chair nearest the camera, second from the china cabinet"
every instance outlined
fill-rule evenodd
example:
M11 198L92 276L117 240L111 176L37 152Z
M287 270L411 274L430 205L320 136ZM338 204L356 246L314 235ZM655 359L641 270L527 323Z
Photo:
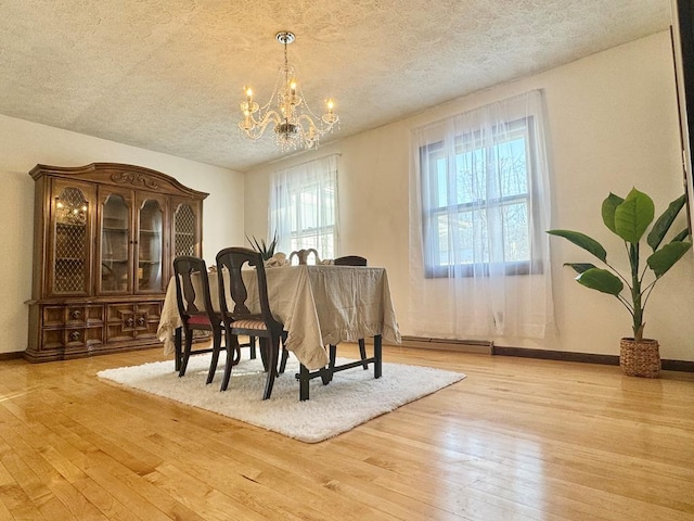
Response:
M252 313L246 304L248 290L242 277L244 266L256 270L260 313ZM226 274L229 276L228 284L224 280ZM278 376L280 340L284 326L274 319L270 310L262 256L247 247L226 247L217 254L217 279L227 348L235 348L239 345L240 334L259 339L260 356L268 373L262 399L268 399L272 395L272 386ZM231 303L233 303L233 309L229 309ZM221 391L226 391L229 385L231 369L232 366L229 364L224 368Z

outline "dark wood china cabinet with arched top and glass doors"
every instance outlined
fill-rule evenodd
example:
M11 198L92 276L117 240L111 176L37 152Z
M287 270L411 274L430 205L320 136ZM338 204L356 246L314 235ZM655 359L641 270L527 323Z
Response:
M178 255L202 256L207 193L140 166L37 165L29 361L160 345Z

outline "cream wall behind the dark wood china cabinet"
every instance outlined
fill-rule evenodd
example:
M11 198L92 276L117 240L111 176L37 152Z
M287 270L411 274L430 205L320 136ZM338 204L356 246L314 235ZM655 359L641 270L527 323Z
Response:
M203 206L203 255L210 263L219 250L244 241L240 173L150 152L0 115L0 353L26 350L31 297L34 180L37 164L82 166L127 163L168 174L195 190L208 192Z

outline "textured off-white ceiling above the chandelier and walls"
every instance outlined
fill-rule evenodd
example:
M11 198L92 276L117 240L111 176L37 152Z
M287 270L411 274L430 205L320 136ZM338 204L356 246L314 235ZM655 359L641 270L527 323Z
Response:
M280 156L236 127L279 30L336 101L325 143L669 24L670 0L0 0L0 114L244 171Z

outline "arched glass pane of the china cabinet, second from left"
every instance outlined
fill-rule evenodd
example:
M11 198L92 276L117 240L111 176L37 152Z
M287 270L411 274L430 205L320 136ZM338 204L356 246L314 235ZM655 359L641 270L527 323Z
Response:
M120 194L110 194L103 203L101 220L101 291L126 293L130 276L130 208Z

